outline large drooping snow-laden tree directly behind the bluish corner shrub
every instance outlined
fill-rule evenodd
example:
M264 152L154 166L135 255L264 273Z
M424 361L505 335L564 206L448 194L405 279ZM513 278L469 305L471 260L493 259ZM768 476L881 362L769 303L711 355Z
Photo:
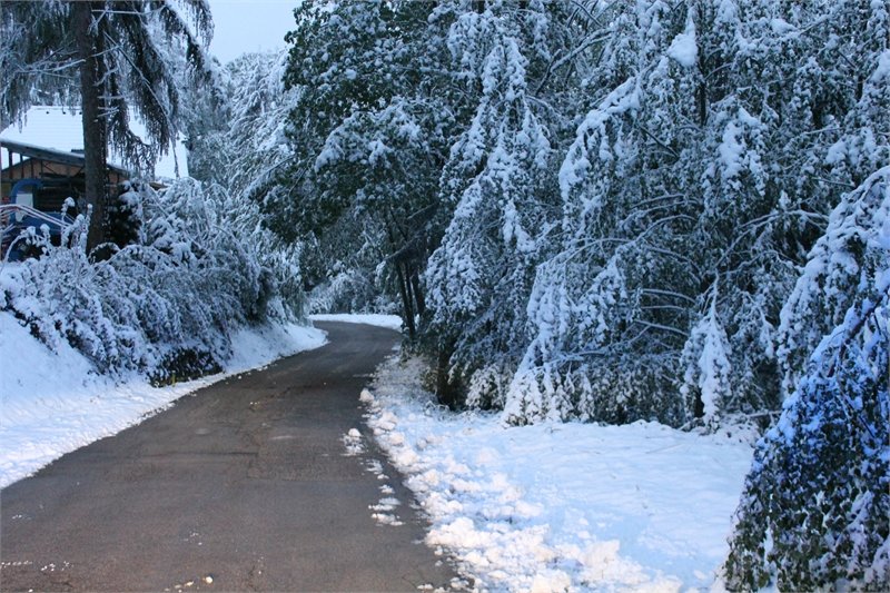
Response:
M780 401L777 327L798 266L839 195L888 158L886 6L610 10L507 419L711 417L688 364L706 334L732 369L712 412L756 416Z

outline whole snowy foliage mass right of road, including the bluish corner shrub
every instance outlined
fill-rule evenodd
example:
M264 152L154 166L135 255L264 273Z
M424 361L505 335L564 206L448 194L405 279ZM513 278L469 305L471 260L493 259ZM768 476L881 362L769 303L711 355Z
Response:
M781 414L728 584L888 587L886 2L306 10L305 192L275 208L343 287L412 210L369 211L435 209L412 260L428 310L403 313L443 403L507 424Z

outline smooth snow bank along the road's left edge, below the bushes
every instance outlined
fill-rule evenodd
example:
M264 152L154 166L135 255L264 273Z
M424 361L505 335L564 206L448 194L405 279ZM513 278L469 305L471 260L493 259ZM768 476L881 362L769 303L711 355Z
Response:
M138 424L195 389L323 344L324 332L310 327L240 329L224 373L154 388L138 376L116 384L96 375L67 344L53 353L0 312L0 487Z

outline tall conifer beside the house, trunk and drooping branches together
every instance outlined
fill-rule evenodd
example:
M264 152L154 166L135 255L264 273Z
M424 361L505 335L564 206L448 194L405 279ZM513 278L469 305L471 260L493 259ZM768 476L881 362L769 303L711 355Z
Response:
M174 77L165 45L179 45L188 72L202 78L204 47L212 34L209 7L202 0L12 1L3 2L2 31L3 77L12 75L3 85L3 127L20 120L41 85L79 89L95 247L102 239L108 147L136 168L154 166L169 149L182 81ZM147 138L131 131L130 113L145 122Z

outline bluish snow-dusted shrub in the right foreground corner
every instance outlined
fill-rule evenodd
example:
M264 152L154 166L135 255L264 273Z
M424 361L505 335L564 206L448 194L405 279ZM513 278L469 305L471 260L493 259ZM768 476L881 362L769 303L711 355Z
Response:
M843 273L831 274L838 265ZM843 298L832 287L842 287ZM800 336L839 323L795 373L802 377L797 391L758 445L725 565L728 583L887 591L890 168L832 213L785 307L784 319L791 317ZM789 339L788 352L790 346L798 344Z

